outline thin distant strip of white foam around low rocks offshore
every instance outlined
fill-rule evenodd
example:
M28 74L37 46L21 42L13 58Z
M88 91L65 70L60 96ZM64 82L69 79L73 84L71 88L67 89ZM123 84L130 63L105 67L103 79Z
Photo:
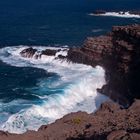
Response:
M94 14L90 13L90 16L111 16L111 17L121 17L121 18L140 18L140 15L130 14L130 12L106 12L104 14Z

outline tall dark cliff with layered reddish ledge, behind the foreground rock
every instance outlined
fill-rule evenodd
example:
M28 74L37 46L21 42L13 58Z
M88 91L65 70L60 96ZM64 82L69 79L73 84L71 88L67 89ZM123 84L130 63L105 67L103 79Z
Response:
M140 98L140 25L115 26L106 36L88 38L82 48L73 48L68 59L106 70L100 92L123 105Z

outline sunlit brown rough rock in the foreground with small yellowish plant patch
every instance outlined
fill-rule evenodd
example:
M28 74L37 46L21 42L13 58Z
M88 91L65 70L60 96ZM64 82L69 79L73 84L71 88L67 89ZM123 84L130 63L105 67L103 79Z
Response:
M128 109L106 102L95 114L77 112L55 123L42 126L37 132L22 135L2 132L0 140L139 140L140 100Z

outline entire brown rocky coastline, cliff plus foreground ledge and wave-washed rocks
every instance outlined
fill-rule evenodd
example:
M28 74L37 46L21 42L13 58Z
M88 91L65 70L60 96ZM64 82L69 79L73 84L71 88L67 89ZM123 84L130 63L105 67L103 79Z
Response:
M46 49L36 56L54 55ZM33 57L37 50L27 48L22 57ZM37 132L0 132L0 140L139 140L140 139L140 25L114 26L104 36L90 37L81 48L71 48L66 59L106 70L107 84L98 89L114 102L101 105L94 114L71 113Z

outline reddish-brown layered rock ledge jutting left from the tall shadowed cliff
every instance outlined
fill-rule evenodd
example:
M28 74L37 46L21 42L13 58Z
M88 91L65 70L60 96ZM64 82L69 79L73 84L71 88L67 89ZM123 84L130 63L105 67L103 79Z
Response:
M68 59L75 63L103 65L112 54L112 36L88 38L82 48L71 48Z

